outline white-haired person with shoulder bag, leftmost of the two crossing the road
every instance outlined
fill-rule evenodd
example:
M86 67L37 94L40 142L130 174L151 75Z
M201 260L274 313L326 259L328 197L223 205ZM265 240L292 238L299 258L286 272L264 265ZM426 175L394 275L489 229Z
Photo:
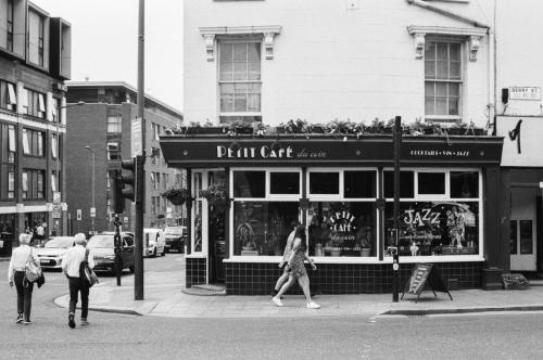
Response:
M31 247L28 246L30 244L30 239L31 235L26 233L18 236L20 246L13 249L10 266L8 268L10 286L13 287L13 284L15 284L17 288L17 319L15 322L25 325L31 323L30 309L34 290L34 282L25 281L26 262L31 258L36 263L39 263L33 254Z

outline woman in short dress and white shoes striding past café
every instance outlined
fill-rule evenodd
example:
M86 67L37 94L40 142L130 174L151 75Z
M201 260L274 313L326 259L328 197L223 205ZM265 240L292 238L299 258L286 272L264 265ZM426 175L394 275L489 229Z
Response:
M305 295L305 300L307 304L305 305L307 309L318 309L320 305L315 304L311 299L310 293L310 278L307 277L307 272L305 271L304 260L310 261L313 270L316 270L317 267L312 258L307 257L305 254L306 244L305 244L305 227L299 226L294 233L294 241L292 242L292 250L290 253L288 269L289 269L289 281L281 286L279 293L272 298L277 306L282 306L281 296L289 290L289 287L298 280L298 284L302 287L302 291Z

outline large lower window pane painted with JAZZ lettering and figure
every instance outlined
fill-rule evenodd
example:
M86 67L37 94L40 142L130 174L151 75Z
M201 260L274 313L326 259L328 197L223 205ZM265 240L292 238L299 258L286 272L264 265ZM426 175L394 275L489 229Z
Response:
M384 246L394 246L393 203L384 209ZM478 202L400 203L399 252L403 256L479 254Z

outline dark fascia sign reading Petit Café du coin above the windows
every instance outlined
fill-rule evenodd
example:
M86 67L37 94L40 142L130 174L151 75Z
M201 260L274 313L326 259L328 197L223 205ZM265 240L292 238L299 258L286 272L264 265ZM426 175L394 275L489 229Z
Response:
M161 140L168 165L211 167L225 165L300 165L300 164L359 164L392 163L393 146L390 137L368 139L283 138L277 143L270 139L172 138ZM494 164L500 163L502 140L483 137L446 141L445 139L404 138L401 162Z

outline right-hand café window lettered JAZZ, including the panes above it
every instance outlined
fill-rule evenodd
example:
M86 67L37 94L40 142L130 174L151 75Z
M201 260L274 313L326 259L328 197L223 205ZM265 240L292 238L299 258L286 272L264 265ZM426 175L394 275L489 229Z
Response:
M415 171L415 178L418 195L400 202L400 255L478 255L480 173L425 170ZM395 245L393 207L387 198L384 248Z

